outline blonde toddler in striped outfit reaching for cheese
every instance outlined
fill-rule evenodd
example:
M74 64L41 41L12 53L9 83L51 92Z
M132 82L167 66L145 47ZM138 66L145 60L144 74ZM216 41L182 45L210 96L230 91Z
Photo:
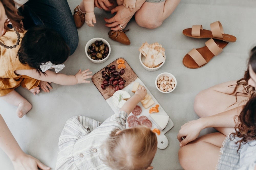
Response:
M156 134L146 126L125 129L127 116L146 94L139 87L103 123L86 116L69 118L59 138L56 169L153 169Z

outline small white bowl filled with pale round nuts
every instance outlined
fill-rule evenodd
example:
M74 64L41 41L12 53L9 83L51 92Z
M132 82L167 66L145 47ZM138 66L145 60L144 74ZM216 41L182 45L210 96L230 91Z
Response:
M162 93L170 93L177 86L177 80L171 73L161 73L156 77L156 88Z

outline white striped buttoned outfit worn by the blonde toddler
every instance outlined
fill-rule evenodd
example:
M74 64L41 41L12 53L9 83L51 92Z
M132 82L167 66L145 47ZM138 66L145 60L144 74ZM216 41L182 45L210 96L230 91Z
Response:
M60 138L56 169L111 169L100 159L101 145L113 129L125 129L127 113L119 111L102 124L86 116L67 120Z

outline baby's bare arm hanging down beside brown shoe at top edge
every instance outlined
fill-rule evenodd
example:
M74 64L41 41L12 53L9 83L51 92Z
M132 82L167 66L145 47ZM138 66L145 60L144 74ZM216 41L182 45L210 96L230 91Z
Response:
M88 26L93 27L96 24L96 17L94 15L94 0L83 0L85 14L85 22Z

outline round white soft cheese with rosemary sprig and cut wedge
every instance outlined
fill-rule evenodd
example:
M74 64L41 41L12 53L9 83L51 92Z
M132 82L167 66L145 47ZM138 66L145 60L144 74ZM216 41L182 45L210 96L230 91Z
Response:
M115 107L122 108L127 98L129 99L130 97L131 95L127 91L117 90L112 96L112 103Z

